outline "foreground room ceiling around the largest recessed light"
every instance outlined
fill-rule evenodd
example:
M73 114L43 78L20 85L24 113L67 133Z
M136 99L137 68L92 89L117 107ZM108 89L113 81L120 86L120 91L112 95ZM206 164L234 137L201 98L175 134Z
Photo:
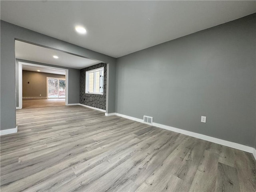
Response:
M256 12L255 1L0 1L1 19L120 57ZM74 26L82 25L80 35Z

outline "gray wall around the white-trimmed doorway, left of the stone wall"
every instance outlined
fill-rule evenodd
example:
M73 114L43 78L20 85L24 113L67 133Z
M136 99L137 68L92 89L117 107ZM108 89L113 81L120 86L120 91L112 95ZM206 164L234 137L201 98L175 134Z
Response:
M18 62L25 62L25 63L31 63L31 64L37 64L37 65L44 65L44 66L68 69L68 103L69 104L79 103L79 89L80 89L79 88L79 84L80 84L80 70L79 69L73 69L73 68L50 65L50 64L39 63L39 62L34 62L34 61L16 59L16 106L17 107L19 106Z

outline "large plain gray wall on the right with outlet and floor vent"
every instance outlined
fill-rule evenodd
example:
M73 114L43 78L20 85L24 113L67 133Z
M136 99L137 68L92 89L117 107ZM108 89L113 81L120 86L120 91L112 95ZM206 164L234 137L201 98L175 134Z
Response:
M118 58L116 112L254 146L255 18Z

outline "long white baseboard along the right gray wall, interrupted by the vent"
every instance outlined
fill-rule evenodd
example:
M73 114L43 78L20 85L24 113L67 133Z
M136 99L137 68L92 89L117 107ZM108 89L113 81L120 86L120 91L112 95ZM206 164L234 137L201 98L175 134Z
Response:
M135 117L119 114L119 113L115 113L115 114L117 116L120 116L120 117L124 117L124 118L130 119L130 120L134 120L134 121L144 123L143 119L139 119L139 118L135 118ZM198 139L210 141L210 142L213 142L213 143L216 143L216 144L228 146L228 147L235 148L235 149L238 149L238 150L242 150L242 151L245 151L245 152L249 152L249 153L252 153L254 155L254 158L256 159L256 149L254 149L252 147L249 147L249 146L246 146L246 145L242 145L242 144L238 144L238 143L234 143L234 142L214 138L214 137L211 137L211 136L207 136L207 135L203 135L203 134L199 134L199 133L195 133L195 132L191 132L191 131L187 131L187 130L183 130L183 129L179 129L179 128L159 124L159 123L154 123L153 122L152 126L163 128L163 129L170 130L170 131L177 132L177 133L181 133L181 134L184 134L184 135L192 136L192 137L195 137L195 138L198 138Z

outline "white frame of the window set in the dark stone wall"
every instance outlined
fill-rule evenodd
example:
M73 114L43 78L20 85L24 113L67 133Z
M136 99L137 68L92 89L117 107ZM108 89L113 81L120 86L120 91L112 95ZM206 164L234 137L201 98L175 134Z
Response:
M95 85L96 85L96 83L95 83L95 81L96 81L96 72L98 72L98 71L101 71L101 70L103 70L103 73L102 73L102 75L101 75L101 78L103 79L103 80L100 80L100 90L102 90L102 93L96 93L95 92L95 90L96 90L96 87L95 87ZM94 77L93 77L93 92L88 92L88 87L89 87L89 75L88 75L88 73L90 73L90 72L94 72ZM93 69L93 70L90 70L90 71L86 71L86 73L85 73L85 93L86 94L97 94L97 95L103 95L104 94L104 67L100 67L100 68L97 68L97 69Z

